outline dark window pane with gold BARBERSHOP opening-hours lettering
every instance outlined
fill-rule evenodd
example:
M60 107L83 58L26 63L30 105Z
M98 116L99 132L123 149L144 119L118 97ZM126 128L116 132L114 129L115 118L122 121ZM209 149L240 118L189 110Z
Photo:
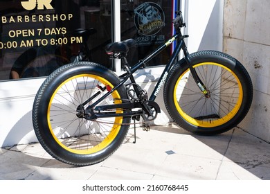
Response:
M0 80L48 76L87 48L91 61L111 65L111 1L2 0L0 17Z

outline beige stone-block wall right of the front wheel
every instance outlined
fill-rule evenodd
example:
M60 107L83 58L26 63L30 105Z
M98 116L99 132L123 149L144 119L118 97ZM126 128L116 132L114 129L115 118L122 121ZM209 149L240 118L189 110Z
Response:
M253 104L239 127L270 142L270 1L224 1L224 52L240 60L253 81Z

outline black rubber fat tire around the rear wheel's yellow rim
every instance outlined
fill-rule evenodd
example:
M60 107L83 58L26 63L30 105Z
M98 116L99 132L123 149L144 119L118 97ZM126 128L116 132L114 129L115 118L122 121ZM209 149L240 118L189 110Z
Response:
M46 152L55 159L74 166L88 166L107 159L107 157L112 155L119 148L129 129L129 125L121 125L117 136L106 148L89 155L69 152L69 150L62 148L62 146L55 141L47 122L47 109L51 96L55 89L57 89L64 80L84 73L91 73L100 76L101 78L105 78L114 86L118 85L120 82L119 78L113 71L101 66L100 64L93 62L75 62L66 64L46 78L42 86L39 88L39 91L37 91L33 104L33 127L39 143L42 145L44 150L46 150ZM117 91L121 98L126 98L123 86L119 87ZM123 123L130 123L130 118L124 117Z

